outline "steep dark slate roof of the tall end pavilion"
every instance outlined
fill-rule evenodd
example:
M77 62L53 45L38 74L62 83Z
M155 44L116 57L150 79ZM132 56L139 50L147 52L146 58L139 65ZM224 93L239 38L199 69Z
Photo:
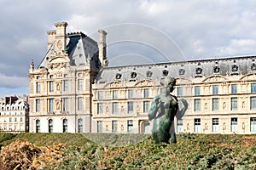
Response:
M47 68L50 56L55 53L55 46L56 42L53 42L38 68ZM67 48L64 53L67 53L70 65L87 65L90 61L96 68L100 66L97 42L83 32L67 34Z

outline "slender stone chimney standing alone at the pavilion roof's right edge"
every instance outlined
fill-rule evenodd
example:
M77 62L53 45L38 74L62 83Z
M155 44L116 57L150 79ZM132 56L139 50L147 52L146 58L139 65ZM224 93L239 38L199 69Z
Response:
M101 60L102 66L108 66L107 59L107 42L106 36L107 32L104 30L99 30L99 59Z

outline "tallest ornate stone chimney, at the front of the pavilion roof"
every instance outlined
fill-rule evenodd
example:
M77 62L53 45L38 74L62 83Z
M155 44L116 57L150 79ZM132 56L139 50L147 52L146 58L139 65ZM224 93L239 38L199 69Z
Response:
M55 51L64 51L66 49L66 27L67 22L58 22L55 24Z

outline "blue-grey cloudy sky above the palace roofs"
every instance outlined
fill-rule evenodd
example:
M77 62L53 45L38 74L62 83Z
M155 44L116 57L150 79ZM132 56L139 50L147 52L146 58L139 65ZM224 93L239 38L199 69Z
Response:
M46 32L56 22L93 38L106 30L110 65L256 54L253 0L1 0L0 6L0 97L28 94L30 62L44 58Z

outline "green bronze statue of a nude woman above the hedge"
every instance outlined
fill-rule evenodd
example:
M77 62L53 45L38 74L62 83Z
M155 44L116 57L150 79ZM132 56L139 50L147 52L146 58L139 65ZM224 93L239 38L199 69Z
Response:
M160 142L166 142L168 144L171 136L172 143L176 143L173 123L174 117L177 116L178 119L181 119L188 108L188 104L184 99L180 99L184 107L181 111L178 110L177 97L171 94L176 85L174 77L166 77L160 84L164 88L162 88L161 94L154 97L148 112L148 119L154 119L152 136L155 144Z

